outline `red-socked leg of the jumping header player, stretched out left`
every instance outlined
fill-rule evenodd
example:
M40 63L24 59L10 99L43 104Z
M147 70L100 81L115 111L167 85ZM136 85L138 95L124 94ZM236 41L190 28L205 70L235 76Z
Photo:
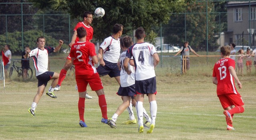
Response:
M63 68L60 71L60 77L58 79L58 83L57 83L56 87L54 88L55 91L60 90L61 83L65 79L67 71L68 71L68 69L70 69L71 66L72 66L72 61L71 61L70 56L68 55L68 57L66 59L66 63L64 64Z

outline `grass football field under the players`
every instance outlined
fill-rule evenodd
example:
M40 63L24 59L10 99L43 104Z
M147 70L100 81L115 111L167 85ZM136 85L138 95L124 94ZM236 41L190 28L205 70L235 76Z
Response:
M96 93L88 88L93 98L86 99L85 121L88 128L78 124L78 94L75 80L67 78L57 99L43 95L36 117L28 112L37 91L37 82L0 81L0 140L252 140L256 139L256 94L254 77L239 77L243 89L238 89L245 102L245 112L235 114L235 131L226 130L223 109L216 96L216 86L208 76L157 77L158 114L152 134L139 134L138 125L121 124L128 118L125 111L118 117L117 129L102 124ZM122 103L115 93L114 79L101 77L104 84L108 117ZM46 89L48 89L50 83ZM149 112L148 100L144 108ZM136 111L134 110L136 115Z

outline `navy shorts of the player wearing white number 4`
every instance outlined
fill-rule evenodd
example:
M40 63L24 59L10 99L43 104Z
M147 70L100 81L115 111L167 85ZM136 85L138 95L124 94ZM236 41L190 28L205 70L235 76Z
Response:
M141 81L135 80L135 85L136 94L156 94L156 77Z

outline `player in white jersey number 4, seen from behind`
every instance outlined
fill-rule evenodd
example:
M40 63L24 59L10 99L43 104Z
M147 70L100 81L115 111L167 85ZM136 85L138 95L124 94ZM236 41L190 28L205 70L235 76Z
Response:
M126 52L126 58L124 59L124 69L128 75L132 71L128 67L128 62L133 57L135 65L135 90L136 96L136 110L138 116L138 132L142 133L144 130L143 125L143 101L144 95L148 95L148 101L150 102L150 114L151 123L147 133L152 133L157 112L156 104L156 74L154 67L159 63L159 57L154 45L144 42L146 36L145 30L140 27L135 31L135 37L137 42L128 48Z

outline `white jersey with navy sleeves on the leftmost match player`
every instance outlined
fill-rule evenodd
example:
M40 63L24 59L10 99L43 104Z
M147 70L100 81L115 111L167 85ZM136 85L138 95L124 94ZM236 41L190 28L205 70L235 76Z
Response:
M33 49L29 55L33 57L36 76L48 71L48 54L54 51L53 47L44 47L42 49Z

